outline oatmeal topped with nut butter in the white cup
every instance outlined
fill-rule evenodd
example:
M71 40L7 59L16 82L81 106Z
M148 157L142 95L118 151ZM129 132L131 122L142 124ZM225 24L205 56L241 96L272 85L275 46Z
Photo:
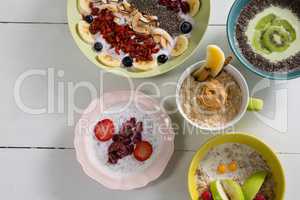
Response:
M242 105L242 91L226 70L204 82L188 76L182 84L180 98L187 117L205 127L227 124L240 112Z

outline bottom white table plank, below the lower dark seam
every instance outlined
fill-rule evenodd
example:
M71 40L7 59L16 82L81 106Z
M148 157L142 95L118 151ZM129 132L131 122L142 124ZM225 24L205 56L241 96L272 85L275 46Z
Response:
M187 170L194 152L176 151L167 170L147 187L111 191L87 177L73 150L0 150L1 197L32 200L189 199ZM300 175L298 155L280 155L286 168L287 200L295 199Z

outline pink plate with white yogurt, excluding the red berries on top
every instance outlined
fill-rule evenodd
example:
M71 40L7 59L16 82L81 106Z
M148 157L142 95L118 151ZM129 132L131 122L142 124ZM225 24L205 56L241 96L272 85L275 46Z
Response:
M118 133L131 117L143 122L142 139L152 145L152 155L144 162L128 155L111 164L108 148L112 140L97 140L94 127L98 121L110 119ZM90 104L76 126L74 145L88 176L110 189L129 190L143 187L162 174L174 151L174 132L170 118L152 98L134 91L118 91L106 93Z

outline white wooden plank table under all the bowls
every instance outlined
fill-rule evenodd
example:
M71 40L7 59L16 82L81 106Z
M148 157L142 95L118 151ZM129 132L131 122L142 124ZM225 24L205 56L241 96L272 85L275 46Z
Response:
M172 95L178 76L191 63L203 58L207 44L215 43L230 50L226 40L225 23L233 0L212 0L210 24L197 54L181 67L159 77L146 79L160 86L161 100ZM74 126L68 125L68 82L89 82L99 90L128 89L124 78L106 74L100 85L99 69L79 51L68 31L66 0L10 0L0 6L0 199L79 200L79 199L189 199L187 170L194 152L211 136L178 131L176 150L164 174L147 187L135 191L118 192L105 189L88 178L75 159L73 149ZM251 90L258 82L270 84L254 93L263 98L265 109L259 114L247 113L235 127L252 132L264 139L277 152L284 165L287 180L286 199L297 199L300 180L300 79L289 82L262 80L245 70L238 62ZM16 104L14 87L23 72L33 69L47 73L55 70L54 112L32 115L24 113ZM62 70L62 77L57 72ZM50 70L51 71L51 70ZM137 88L145 80L134 80ZM58 84L64 93L58 94ZM265 84L263 84L265 85ZM22 101L31 107L47 107L47 77L33 76L21 87ZM151 86L147 94L155 94ZM91 98L84 89L74 97L78 107L85 108ZM58 104L64 112L58 112ZM174 98L167 101L175 107ZM74 115L74 120L79 115ZM183 124L178 113L174 122ZM285 127L286 125L286 127ZM275 127L275 128L274 128Z

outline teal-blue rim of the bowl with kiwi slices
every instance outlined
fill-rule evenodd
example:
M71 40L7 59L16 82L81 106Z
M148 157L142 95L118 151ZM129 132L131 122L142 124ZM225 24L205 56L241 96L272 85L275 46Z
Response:
M238 52L238 50L235 46L235 43L234 43L234 38L231 38L230 34L229 34L229 31L230 31L229 20L234 12L234 9L241 1L242 0L235 0L235 2L232 4L229 14L227 16L227 22L226 22L226 34L227 34L227 40L228 40L229 46L230 46L231 50L233 51L233 53L235 54L235 56L237 57L237 59L240 61L240 63L242 63L242 65L244 67L246 67L248 70L250 70L251 72L254 72L256 75L258 75L262 78L268 78L271 80L291 80L291 79L299 78L300 71L286 73L286 76L276 76L275 73L266 74L265 72L263 72L259 69L256 69L256 67L254 67L251 63L245 62L242 59L242 57L244 57L244 56L240 52ZM284 74L282 74L282 75L284 75Z

